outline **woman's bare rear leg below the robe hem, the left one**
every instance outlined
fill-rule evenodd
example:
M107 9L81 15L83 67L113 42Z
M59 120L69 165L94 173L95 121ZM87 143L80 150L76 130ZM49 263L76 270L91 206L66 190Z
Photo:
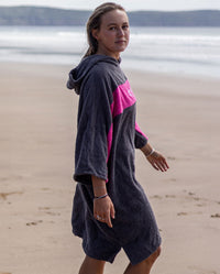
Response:
M105 263L105 261L96 260L86 255L79 270L79 274L103 274Z

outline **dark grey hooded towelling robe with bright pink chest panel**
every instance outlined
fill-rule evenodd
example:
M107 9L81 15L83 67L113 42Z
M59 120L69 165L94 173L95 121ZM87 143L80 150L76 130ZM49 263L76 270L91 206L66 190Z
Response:
M161 237L134 175L134 149L147 142L135 122L135 97L120 62L102 55L84 58L69 73L67 87L79 95L73 232L82 238L87 255L112 263L123 248L131 263L136 264L161 245ZM107 182L116 208L113 228L94 218L91 175Z

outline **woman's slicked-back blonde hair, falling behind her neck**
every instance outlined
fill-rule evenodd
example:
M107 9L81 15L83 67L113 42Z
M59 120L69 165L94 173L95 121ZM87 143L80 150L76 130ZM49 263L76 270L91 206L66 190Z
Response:
M99 30L101 25L102 15L113 10L121 10L125 12L122 6L113 3L113 2L106 2L97 7L96 10L90 15L87 22L87 41L88 41L89 47L84 57L87 57L87 56L90 56L97 53L98 42L92 35L92 30Z

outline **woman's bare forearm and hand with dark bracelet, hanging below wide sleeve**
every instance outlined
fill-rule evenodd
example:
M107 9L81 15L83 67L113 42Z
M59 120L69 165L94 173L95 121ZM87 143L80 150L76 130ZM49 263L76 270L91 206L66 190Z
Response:
M102 197L94 199L94 217L98 221L106 222L112 228L111 218L114 219L114 206L111 198L107 194L106 182L96 176L91 176L94 196Z

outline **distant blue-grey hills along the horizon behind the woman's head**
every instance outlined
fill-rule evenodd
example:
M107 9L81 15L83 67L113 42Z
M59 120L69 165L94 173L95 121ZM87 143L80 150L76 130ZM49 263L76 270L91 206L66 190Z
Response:
M220 26L220 10L133 11L131 25ZM85 25L91 11L44 7L0 7L0 25Z

